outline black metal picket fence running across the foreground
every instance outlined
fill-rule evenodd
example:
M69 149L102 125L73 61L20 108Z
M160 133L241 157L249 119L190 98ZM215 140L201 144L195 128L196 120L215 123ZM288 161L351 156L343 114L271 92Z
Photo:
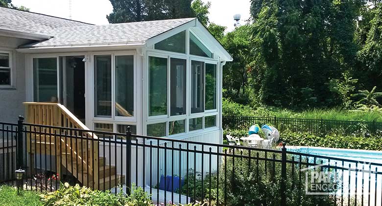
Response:
M25 170L23 183L28 190L52 191L61 181L128 194L137 185L158 205L168 201L221 206L382 203L381 163L299 153L285 145L268 150L145 137L130 131L85 131L22 121L0 125L3 138L16 140L18 158L11 165ZM1 168L0 177L11 177L7 183L14 183L11 170Z

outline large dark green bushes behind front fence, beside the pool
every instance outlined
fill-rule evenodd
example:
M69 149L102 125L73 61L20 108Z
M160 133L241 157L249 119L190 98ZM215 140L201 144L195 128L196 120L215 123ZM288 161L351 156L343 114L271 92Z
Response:
M239 152L238 152L239 153ZM248 151L240 151L244 157L248 156ZM265 154L259 152L259 157L264 158ZM252 154L254 156L255 154ZM257 154L256 154L257 155ZM268 158L271 154L268 153ZM280 154L275 154L275 159L280 160ZM289 158L290 159L290 158ZM207 175L203 184L201 182L201 174L189 171L189 176L185 178L185 184L182 187L182 194L186 195L187 186L189 187L189 196L196 200L203 199L205 202L212 201L212 205L226 205L226 206L280 206L280 180L281 180L281 164L279 162L273 163L267 161L266 167L263 160L251 160L249 166L248 159L235 158L235 166L231 157L227 158L226 165L221 165L219 178L216 174ZM296 166L296 165L295 165ZM227 168L227 170L225 170ZM266 168L266 169L265 169ZM291 172L291 164L287 164L287 204L289 206L317 206L317 205L333 205L329 195L323 195L320 198L312 195L305 194L305 179L299 182L297 172ZM296 170L296 168L294 168ZM225 179L225 175L227 179ZM290 175L294 174L294 175ZM210 196L210 179L211 179L211 196ZM219 182L219 200L217 202L217 181ZM195 183L194 183L195 182ZM294 184L293 184L294 183ZM203 190L202 190L203 185ZM194 186L196 186L196 193L194 193ZM225 194L227 191L227 202L224 202ZM216 203L217 202L217 203Z

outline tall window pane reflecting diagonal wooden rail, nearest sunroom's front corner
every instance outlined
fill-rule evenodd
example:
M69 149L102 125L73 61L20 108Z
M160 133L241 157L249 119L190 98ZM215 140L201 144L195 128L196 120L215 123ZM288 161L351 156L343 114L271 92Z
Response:
M134 116L134 56L116 56L116 115Z

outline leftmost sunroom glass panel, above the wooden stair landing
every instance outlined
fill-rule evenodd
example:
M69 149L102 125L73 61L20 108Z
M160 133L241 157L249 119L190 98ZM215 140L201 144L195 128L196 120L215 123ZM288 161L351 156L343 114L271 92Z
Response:
M33 93L35 102L58 102L57 58L33 59Z

